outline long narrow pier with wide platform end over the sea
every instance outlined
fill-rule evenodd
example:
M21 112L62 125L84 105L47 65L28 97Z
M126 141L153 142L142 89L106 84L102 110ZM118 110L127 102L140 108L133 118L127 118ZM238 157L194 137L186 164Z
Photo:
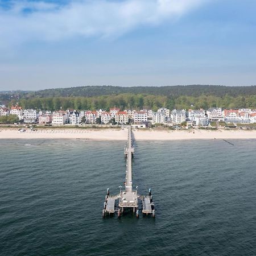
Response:
M154 202L152 200L151 189L148 190L148 196L138 195L138 187L133 188L133 172L132 172L132 158L134 154L133 139L131 137L131 127L128 128L127 146L125 148L126 158L126 171L125 171L125 189L122 190L122 186L119 186L119 194L112 196L107 189L105 196L104 209L102 210L102 216L106 214L117 213L118 217L121 217L126 210L132 210L139 217L139 203L142 204L142 213L151 214L155 217Z

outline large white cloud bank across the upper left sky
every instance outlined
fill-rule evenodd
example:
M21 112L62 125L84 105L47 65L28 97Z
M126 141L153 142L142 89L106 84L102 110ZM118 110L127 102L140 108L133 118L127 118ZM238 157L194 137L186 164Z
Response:
M119 36L176 19L210 0L76 0L65 5L14 1L0 7L0 45L74 36ZM0 6L4 6L4 0Z

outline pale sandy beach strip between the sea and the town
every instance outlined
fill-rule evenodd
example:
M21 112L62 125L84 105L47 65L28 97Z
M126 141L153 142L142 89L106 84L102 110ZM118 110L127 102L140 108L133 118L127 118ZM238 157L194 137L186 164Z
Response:
M188 139L256 139L256 131L249 130L136 130L138 141L175 141ZM126 141L127 129L38 129L20 133L18 129L1 129L0 139L88 139Z

